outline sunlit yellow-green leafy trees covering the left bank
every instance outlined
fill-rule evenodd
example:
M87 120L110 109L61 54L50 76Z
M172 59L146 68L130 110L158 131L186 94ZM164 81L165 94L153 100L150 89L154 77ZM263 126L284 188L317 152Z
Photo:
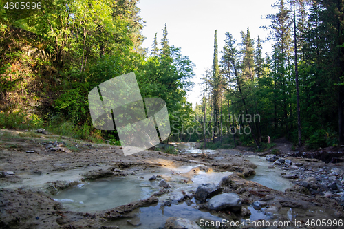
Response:
M1 3L2 127L45 126L53 133L119 143L116 131L92 127L87 94L129 72L135 72L142 97L160 97L169 111L192 113L185 96L193 63L169 45L166 25L151 52L141 47L138 1L42 1L36 10Z

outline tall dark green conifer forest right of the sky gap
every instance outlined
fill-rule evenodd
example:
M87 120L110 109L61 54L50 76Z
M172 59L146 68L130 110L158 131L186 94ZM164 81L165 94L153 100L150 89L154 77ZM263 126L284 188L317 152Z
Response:
M277 1L272 7L278 11L266 16L273 45L265 57L263 41L249 28L241 41L226 32L220 51L215 31L197 123L185 128L184 139L193 134L189 139L203 138L213 148L239 142L264 149L268 136L308 149L343 144L343 1ZM203 134L195 133L197 126Z

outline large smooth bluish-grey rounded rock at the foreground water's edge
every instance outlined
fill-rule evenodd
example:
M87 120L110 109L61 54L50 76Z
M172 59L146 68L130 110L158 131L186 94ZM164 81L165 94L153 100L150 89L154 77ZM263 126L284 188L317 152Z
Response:
M232 210L237 212L241 210L241 199L236 193L222 193L220 195L215 195L208 202L209 210Z

